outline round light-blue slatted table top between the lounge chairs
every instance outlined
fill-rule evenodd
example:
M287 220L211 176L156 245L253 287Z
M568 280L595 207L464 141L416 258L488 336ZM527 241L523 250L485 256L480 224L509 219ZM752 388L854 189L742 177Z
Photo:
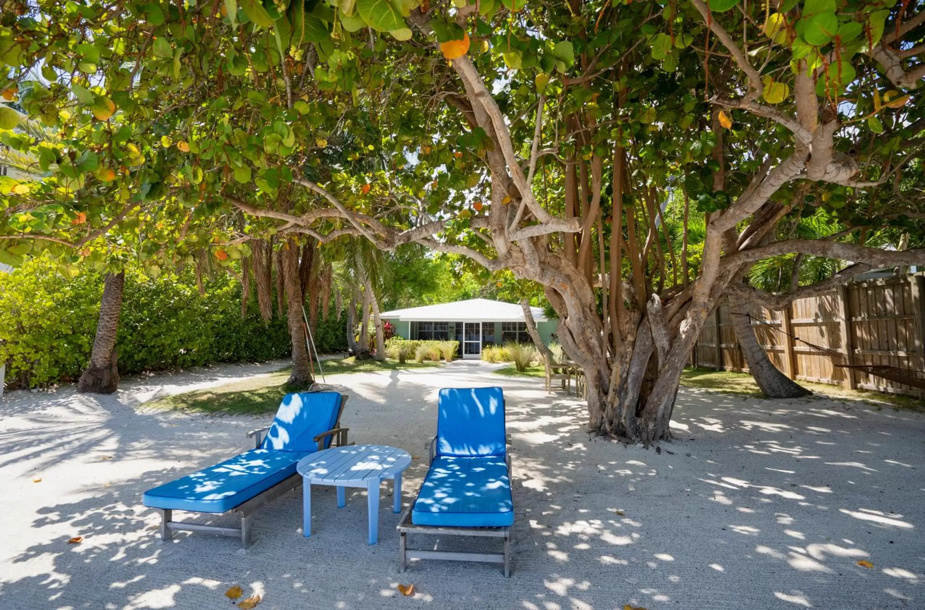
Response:
M356 485L369 479L391 479L411 466L411 454L388 445L348 445L306 455L296 471L313 484Z

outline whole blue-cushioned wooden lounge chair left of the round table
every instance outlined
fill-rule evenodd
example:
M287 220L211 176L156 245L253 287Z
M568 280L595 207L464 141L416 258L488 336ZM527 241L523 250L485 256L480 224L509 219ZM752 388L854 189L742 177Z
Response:
M144 492L144 505L161 510L160 534L169 540L174 531L203 531L240 536L251 545L251 517L258 508L302 484L295 471L302 457L336 444L347 444L348 428L340 428L347 396L339 392L286 394L273 423L251 430L254 448ZM261 435L266 436L261 440ZM175 510L240 515L240 529L171 520Z

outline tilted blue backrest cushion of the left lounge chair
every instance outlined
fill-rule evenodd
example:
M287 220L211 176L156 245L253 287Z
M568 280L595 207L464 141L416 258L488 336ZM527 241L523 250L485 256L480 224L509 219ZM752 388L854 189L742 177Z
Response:
M317 451L314 437L334 428L339 411L339 392L286 394L261 447L276 451ZM327 437L325 448L330 444L331 437Z

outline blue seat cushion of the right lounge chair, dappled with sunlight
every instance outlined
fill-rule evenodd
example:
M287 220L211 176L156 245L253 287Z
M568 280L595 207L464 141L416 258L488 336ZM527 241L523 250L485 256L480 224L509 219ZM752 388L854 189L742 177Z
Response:
M438 456L411 516L415 525L502 528L513 525L511 479L501 456Z

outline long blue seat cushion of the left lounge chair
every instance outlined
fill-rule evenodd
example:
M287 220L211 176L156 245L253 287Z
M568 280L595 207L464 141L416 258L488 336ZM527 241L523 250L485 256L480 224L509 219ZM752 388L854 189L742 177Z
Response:
M224 513L294 475L309 453L252 449L144 492L144 505Z

